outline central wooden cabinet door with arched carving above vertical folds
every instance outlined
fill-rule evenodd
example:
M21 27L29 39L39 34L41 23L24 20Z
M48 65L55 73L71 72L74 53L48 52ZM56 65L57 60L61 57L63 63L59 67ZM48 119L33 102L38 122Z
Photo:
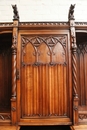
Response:
M20 36L20 123L71 124L68 32L38 33Z

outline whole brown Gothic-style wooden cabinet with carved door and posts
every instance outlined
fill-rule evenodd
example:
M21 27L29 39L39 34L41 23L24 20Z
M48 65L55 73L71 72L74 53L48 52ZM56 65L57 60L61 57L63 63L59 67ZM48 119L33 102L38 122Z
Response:
M69 22L19 22L16 13L0 24L0 129L86 129L87 23L72 8Z

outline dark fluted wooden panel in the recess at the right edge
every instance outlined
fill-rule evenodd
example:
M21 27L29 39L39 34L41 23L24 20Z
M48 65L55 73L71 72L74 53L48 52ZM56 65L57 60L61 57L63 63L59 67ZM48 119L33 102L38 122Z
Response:
M79 105L87 105L87 42L78 44Z

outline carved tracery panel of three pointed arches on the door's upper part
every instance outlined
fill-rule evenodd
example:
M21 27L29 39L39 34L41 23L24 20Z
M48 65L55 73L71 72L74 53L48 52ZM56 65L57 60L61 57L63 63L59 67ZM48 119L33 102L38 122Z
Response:
M65 48L66 35L59 37L22 36L22 63L66 64Z

